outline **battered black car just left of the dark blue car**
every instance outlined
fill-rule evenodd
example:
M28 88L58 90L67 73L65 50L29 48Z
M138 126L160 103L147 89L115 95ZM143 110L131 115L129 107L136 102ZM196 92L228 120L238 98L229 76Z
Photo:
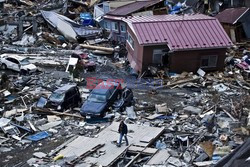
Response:
M65 111L69 108L78 107L81 104L81 95L76 85L64 85L56 89L47 101L46 107L58 111Z

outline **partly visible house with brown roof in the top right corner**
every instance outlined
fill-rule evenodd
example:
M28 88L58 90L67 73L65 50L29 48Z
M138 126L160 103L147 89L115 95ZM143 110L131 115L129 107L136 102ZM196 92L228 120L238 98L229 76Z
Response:
M250 39L250 8L228 8L215 17L233 42Z

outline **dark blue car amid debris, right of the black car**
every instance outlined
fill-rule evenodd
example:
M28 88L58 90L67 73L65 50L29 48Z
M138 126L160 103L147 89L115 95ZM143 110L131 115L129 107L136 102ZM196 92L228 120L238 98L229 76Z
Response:
M117 82L103 81L90 93L83 103L80 113L82 116L103 117L121 94L121 84Z

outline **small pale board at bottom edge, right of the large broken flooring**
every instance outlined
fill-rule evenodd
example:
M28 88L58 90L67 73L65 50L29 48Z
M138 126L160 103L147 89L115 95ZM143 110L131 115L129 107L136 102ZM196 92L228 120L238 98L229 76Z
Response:
M170 157L167 150L159 150L147 163L147 165L163 165Z

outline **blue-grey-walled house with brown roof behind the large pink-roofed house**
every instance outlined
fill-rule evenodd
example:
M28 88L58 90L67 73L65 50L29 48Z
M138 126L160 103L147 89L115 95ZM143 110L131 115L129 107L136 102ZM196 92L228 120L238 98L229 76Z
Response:
M135 2L120 6L106 13L101 21L101 26L112 33L112 40L118 42L126 41L126 24L123 18L133 15L167 14L164 0L137 0Z

